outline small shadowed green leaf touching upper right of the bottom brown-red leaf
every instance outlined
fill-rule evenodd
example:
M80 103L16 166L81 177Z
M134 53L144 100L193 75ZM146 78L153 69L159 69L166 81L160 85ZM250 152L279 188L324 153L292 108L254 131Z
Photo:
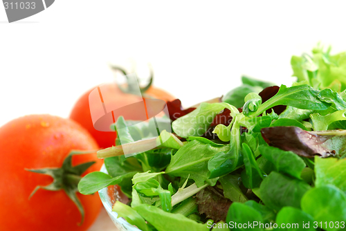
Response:
M242 183L239 175L228 174L219 178L222 189L224 190L224 196L230 201L242 202L248 201L245 194L240 189L239 185Z

